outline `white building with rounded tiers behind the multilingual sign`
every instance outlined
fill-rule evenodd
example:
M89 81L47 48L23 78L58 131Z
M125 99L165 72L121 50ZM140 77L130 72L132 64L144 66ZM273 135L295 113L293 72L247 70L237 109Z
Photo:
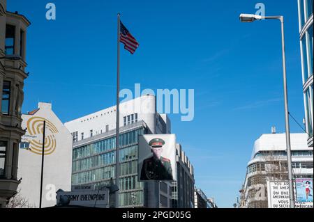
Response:
M294 178L313 178L313 148L307 134L290 134ZM267 181L287 180L285 134L262 134L253 147L240 191L244 208L267 208Z

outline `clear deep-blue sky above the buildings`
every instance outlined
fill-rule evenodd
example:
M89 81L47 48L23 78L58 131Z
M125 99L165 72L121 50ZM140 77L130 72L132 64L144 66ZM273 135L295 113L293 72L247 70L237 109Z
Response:
M45 19L48 2L55 21ZM140 42L134 55L121 47L121 88L195 89L194 120L170 115L172 133L195 167L195 185L232 207L254 141L271 126L285 131L280 23L239 22L257 2L8 0L8 10L31 21L23 112L52 102L66 122L115 104L119 12ZM266 15L285 16L290 113L301 123L297 1L260 2Z

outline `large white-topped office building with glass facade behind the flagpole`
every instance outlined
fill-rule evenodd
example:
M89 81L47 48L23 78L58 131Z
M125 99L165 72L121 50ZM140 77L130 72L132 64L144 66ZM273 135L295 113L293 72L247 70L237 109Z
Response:
M65 125L73 135L72 185L99 189L115 173L116 107ZM170 134L170 120L156 113L156 97L144 95L120 104L120 207L171 207L170 182L138 182L138 135Z

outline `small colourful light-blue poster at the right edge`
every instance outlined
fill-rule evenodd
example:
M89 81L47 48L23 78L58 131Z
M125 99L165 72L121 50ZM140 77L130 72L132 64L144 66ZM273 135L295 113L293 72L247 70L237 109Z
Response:
M313 179L295 179L295 189L298 203L313 203Z

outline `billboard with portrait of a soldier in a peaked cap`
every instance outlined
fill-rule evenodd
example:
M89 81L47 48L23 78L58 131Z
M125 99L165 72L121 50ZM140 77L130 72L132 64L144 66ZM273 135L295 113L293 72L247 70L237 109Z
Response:
M138 180L176 180L175 134L149 134L139 136Z

